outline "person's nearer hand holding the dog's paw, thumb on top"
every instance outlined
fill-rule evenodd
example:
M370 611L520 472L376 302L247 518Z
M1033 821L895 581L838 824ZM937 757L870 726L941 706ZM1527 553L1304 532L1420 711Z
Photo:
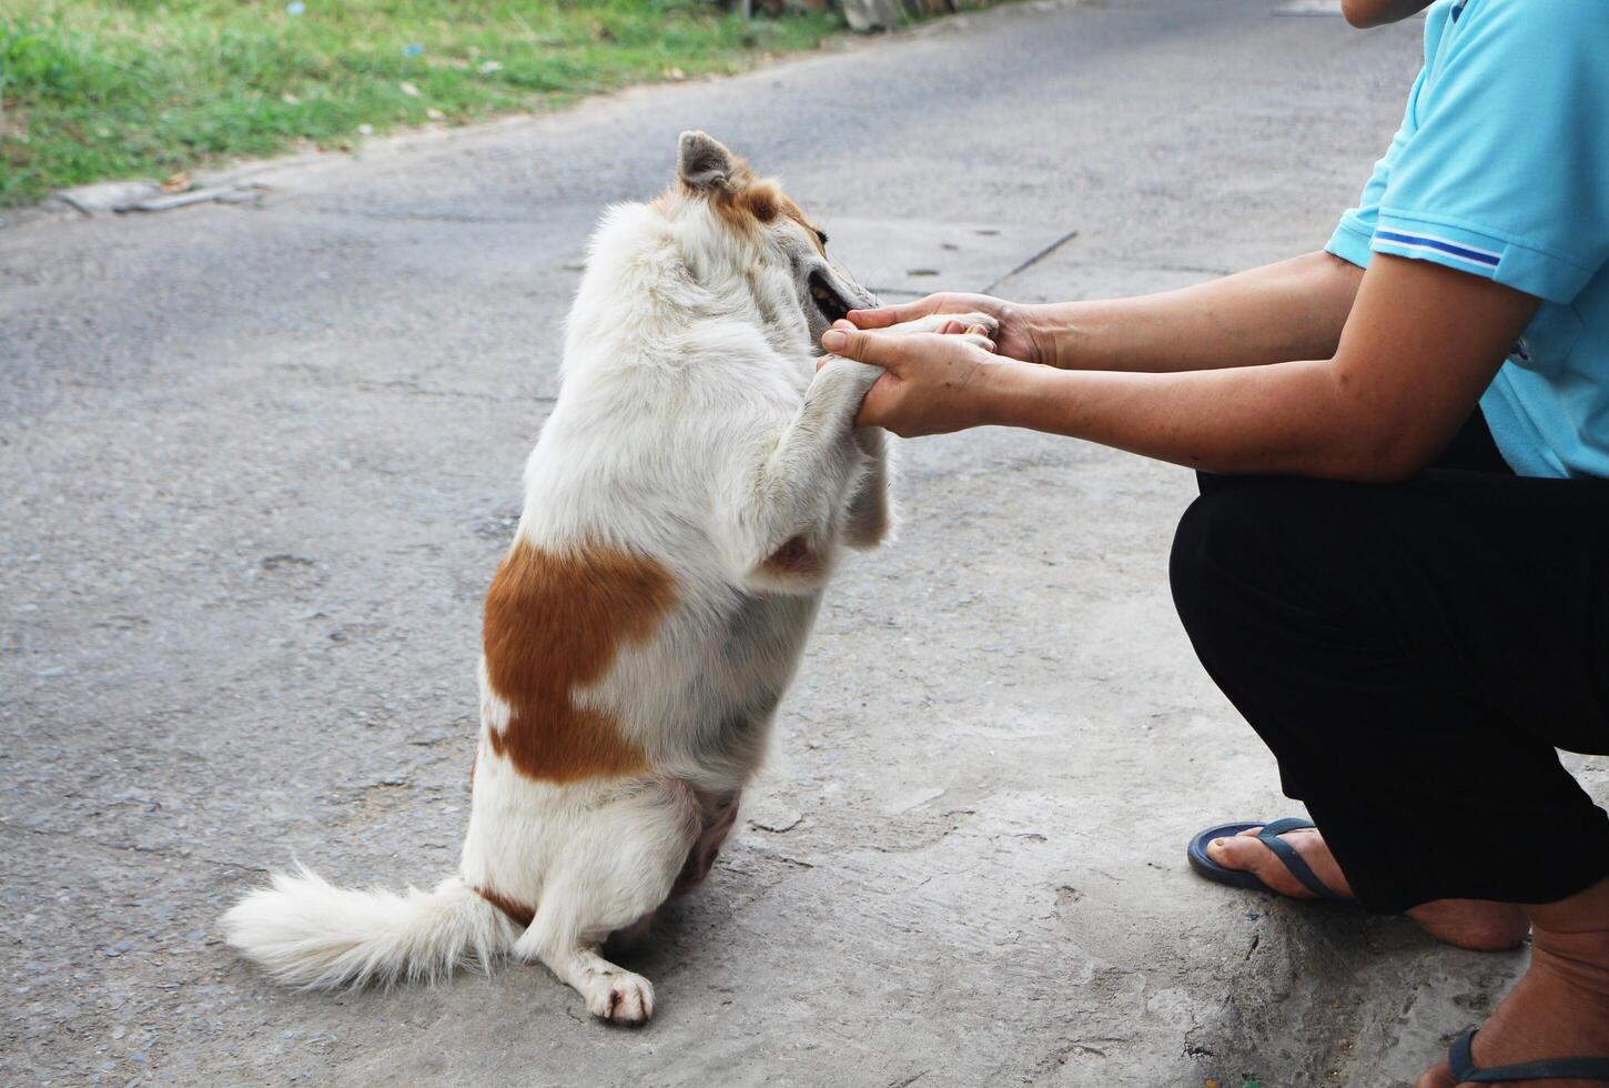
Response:
M821 346L888 372L866 394L854 422L901 438L991 422L990 396L1002 373L1018 365L994 354L993 341L977 332L898 336L838 320L822 333Z

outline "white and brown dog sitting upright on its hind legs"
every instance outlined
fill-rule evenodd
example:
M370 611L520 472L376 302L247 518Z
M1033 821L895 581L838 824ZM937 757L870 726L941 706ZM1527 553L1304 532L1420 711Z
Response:
M875 304L825 241L702 132L663 196L608 211L486 597L457 876L393 895L275 874L224 917L235 948L302 987L512 954L599 1017L648 1019L653 987L599 946L708 872L840 547L890 525L883 433L854 428L882 370L816 367L832 320Z

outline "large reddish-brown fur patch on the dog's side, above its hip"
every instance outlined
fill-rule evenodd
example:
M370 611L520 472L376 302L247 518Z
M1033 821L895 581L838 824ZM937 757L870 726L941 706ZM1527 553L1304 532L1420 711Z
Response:
M486 731L492 752L544 782L644 774L647 756L613 716L571 694L602 679L621 645L647 641L674 602L676 581L652 558L515 541L486 594L486 676L512 708L507 729Z

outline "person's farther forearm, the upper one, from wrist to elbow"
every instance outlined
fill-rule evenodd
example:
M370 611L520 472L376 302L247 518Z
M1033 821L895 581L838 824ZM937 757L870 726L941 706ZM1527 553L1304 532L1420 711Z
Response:
M1067 370L1216 370L1327 359L1363 269L1308 253L1178 291L1031 307L1043 361Z

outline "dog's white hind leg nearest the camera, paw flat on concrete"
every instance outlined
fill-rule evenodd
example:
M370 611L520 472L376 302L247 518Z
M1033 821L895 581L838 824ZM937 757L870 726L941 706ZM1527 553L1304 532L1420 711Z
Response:
M599 810L589 824L557 859L513 954L547 964L600 1020L645 1024L653 983L599 948L669 898L698 839L698 800L685 782L660 781Z

